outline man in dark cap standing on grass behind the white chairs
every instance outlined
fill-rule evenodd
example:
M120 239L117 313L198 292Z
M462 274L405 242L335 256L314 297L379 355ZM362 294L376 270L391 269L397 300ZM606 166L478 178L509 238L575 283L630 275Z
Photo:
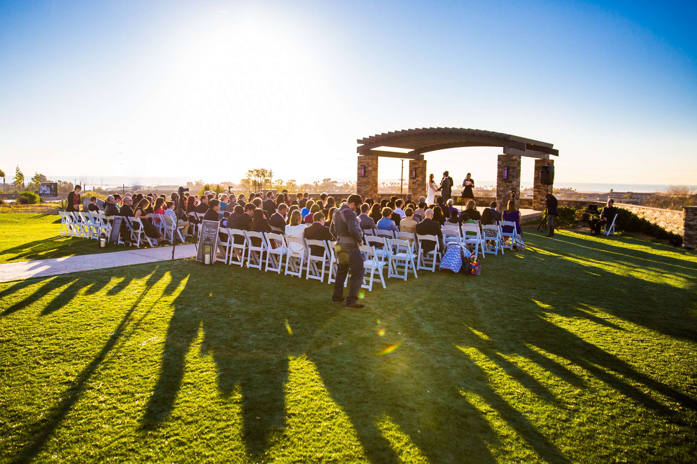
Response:
M360 195L350 195L346 203L334 212L332 218L332 234L337 237L336 257L339 262L332 303L345 301L346 307L361 310L365 305L358 303L358 291L363 283L363 257L359 246L363 244L360 225L355 211L358 211L363 200ZM351 271L351 284L348 296L344 298L344 280Z

